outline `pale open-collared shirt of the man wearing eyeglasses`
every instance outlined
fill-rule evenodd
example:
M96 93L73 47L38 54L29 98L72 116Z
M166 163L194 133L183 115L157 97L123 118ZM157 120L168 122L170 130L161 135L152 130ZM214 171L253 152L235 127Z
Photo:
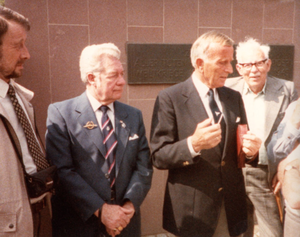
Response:
M262 141L265 141L265 85L259 93L253 93L248 84L244 84L242 92L244 107L247 114L249 130ZM267 149L262 144L259 148L258 164L268 164Z

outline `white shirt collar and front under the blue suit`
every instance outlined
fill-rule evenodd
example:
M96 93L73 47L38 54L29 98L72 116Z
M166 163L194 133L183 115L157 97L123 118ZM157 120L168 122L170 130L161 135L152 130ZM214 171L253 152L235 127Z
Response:
M101 125L102 125L101 118L103 112L99 108L101 107L102 104L94 96L92 96L88 90L86 90L86 95L88 97L89 102L91 103L93 111L95 112L97 122L100 125L100 129L101 129ZM113 129L115 130L115 110L113 107L113 103L108 104L107 107L109 108L107 110L107 116L110 118L110 121L113 125Z

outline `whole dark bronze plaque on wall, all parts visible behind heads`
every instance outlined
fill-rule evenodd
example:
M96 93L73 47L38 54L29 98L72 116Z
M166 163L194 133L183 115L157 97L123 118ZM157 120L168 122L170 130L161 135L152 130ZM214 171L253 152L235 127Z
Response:
M191 44L127 43L128 84L178 83L193 72L190 61ZM236 45L234 45L234 48ZM270 45L272 60L269 75L292 81L293 45ZM235 56L235 55L234 55ZM232 61L233 73L239 76Z

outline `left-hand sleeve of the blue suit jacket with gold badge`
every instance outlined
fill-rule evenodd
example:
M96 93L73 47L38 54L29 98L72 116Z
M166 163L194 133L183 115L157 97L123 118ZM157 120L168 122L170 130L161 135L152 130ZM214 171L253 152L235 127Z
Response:
M76 173L72 154L72 142L66 122L55 105L48 108L46 154L57 167L59 178L58 191L64 192L68 204L86 221L102 207L104 200Z

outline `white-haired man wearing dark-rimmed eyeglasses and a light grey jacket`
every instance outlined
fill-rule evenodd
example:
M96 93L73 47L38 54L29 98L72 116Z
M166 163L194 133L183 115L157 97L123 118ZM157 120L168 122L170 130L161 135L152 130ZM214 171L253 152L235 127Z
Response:
M268 76L270 47L253 38L240 42L236 49L236 69L241 77L228 79L228 86L241 93L249 129L262 140L258 165L243 168L248 209L248 230L243 236L253 236L253 207L261 236L282 236L275 193L279 191L277 167L269 162L266 147L284 117L288 105L298 98L291 81Z

